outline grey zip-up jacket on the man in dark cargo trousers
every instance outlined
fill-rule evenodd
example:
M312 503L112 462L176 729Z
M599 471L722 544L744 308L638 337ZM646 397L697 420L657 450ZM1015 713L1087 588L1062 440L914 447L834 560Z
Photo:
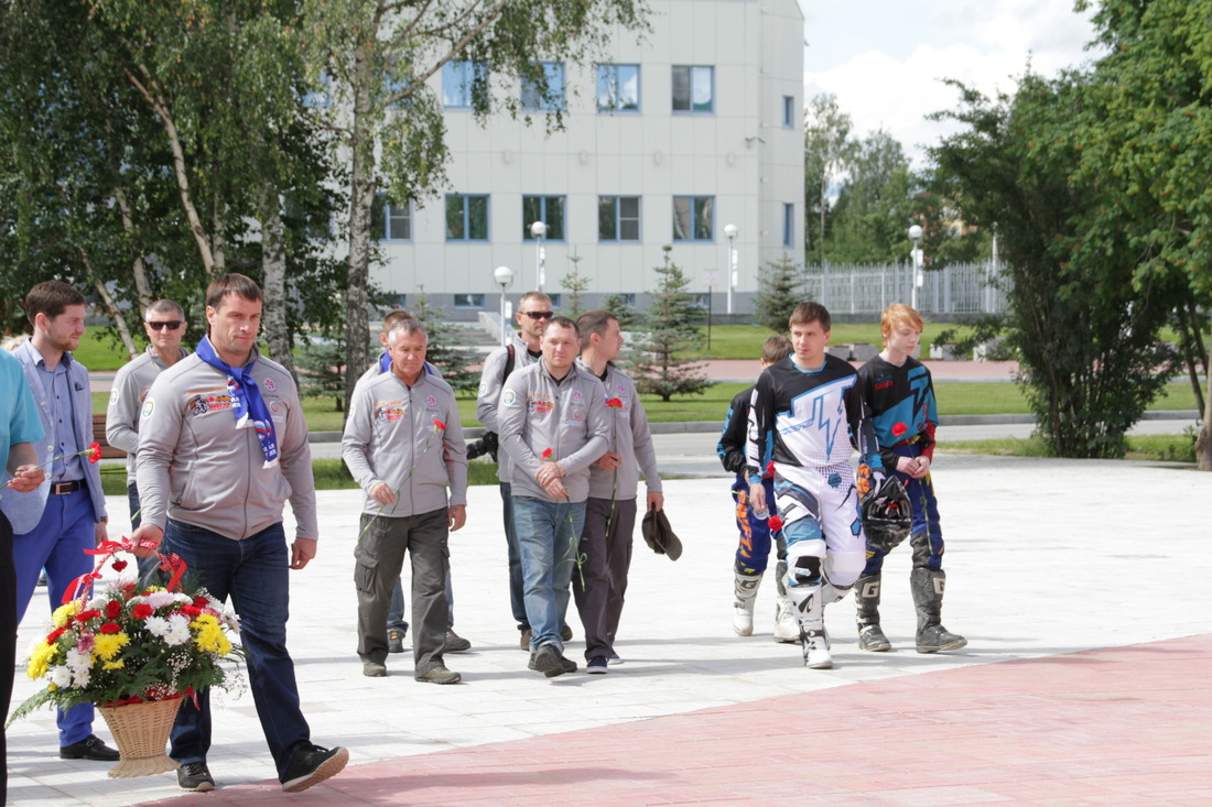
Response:
M439 429L438 420L445 429ZM411 388L385 372L358 382L341 456L366 493L362 513L411 516L467 504L467 445L450 384L422 371ZM410 470L412 471L410 475ZM384 506L370 497L384 482L396 496Z

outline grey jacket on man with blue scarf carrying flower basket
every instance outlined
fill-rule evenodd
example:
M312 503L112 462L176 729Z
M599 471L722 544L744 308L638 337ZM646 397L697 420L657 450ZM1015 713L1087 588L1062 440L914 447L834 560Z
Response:
M242 540L282 520L287 499L296 537L319 539L315 481L307 420L295 379L253 348L252 377L269 407L278 465L253 428L236 429L227 374L198 354L165 370L152 384L139 417L135 479L143 523L167 519Z

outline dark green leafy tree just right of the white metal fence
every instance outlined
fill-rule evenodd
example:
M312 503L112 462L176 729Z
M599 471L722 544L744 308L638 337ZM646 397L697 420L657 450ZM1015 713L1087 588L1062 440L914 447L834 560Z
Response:
M1125 235L1091 225L1109 199L1077 178L1100 114L1088 79L1027 75L1013 98L993 102L960 90L951 115L965 128L931 155L965 219L997 233L1010 338L1039 431L1062 457L1122 456L1171 356L1156 338L1166 310L1133 288Z

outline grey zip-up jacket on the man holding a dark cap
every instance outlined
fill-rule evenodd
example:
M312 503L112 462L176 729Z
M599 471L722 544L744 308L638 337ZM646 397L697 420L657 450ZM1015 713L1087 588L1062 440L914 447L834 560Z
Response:
M594 371L579 359L577 365L593 374ZM648 414L640 404L635 382L614 365L607 364L606 380L602 384L606 388L606 419L610 423L606 451L613 451L622 460L612 471L598 465L589 467L589 496L595 499L613 498L619 502L634 499L640 488L641 470L648 492L661 491L657 450L652 445ZM610 406L610 401L616 399L621 406Z

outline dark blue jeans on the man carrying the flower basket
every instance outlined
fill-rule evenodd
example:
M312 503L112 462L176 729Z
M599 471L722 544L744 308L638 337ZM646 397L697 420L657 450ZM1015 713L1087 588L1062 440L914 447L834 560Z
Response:
M290 555L282 525L233 540L202 527L168 521L162 551L176 553L213 597L231 599L240 617L248 687L261 728L269 743L279 778L291 755L310 742L310 728L299 710L295 662L286 651L290 617ZM171 756L182 765L205 762L211 748L210 692L198 694L198 706L185 699L172 727Z

